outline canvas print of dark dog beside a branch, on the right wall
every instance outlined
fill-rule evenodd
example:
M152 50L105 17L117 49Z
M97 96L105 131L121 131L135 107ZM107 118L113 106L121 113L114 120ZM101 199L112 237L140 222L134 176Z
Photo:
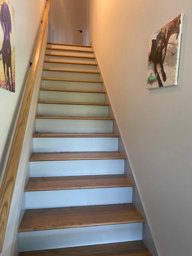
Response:
M147 89L177 85L183 14L149 38Z

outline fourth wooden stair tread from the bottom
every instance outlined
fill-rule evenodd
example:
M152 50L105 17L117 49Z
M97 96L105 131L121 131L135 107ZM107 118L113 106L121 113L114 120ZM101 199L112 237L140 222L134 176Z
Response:
M110 152L38 152L33 153L29 161L67 161L67 160L104 160L125 159L117 151Z

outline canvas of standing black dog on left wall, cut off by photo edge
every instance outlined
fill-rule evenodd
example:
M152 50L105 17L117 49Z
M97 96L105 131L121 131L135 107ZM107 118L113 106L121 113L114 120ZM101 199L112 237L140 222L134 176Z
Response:
M0 88L15 92L15 12L9 1L0 2Z

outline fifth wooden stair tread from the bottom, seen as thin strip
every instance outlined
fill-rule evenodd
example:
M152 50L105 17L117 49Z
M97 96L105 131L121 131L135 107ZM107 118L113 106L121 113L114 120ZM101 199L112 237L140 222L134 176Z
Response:
M64 132L37 132L33 134L34 138L109 138L118 137L115 133L64 133Z

